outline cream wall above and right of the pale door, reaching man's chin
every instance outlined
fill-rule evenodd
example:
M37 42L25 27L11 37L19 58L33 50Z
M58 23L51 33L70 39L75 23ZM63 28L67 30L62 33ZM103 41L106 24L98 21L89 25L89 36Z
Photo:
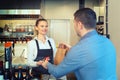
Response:
M41 15L46 19L70 20L70 43L78 41L73 28L73 14L79 8L79 0L42 0ZM74 39L73 39L74 37Z

